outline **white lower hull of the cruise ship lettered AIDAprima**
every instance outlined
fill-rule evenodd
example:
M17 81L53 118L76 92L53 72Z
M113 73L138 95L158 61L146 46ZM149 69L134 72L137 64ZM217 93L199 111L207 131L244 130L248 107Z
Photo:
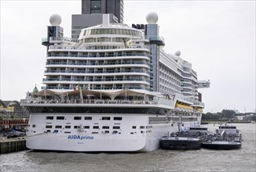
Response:
M113 120L114 115L86 114L86 116L92 116L93 120L90 124L83 120L71 120L74 116L83 118L82 114L47 114L47 116L54 116L54 119L57 116L65 116L65 120L49 122L46 120L46 114L31 115L30 127L27 131L28 149L70 152L149 152L159 149L159 142L163 136L177 131L177 123L173 124L172 121L154 124L155 122L149 121L150 116L134 114L122 115L122 120L119 121ZM110 116L111 120L102 120L102 116ZM157 118L157 116L151 117ZM75 125L81 124L90 126L90 129L74 129ZM185 127L191 127L199 123L193 121L184 124ZM46 125L54 127L61 125L61 128L52 128L50 132L47 132ZM65 125L71 125L71 128L66 129ZM99 126L99 128L93 129L93 126ZM109 127L109 129L103 129L104 127ZM119 127L119 129L113 129L113 127Z

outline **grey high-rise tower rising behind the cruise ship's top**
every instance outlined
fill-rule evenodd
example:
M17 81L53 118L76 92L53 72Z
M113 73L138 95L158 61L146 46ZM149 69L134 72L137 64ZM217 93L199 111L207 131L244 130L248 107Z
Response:
M102 14L110 23L123 23L123 0L82 0L82 14L72 15L71 38L79 38L82 28L102 23Z

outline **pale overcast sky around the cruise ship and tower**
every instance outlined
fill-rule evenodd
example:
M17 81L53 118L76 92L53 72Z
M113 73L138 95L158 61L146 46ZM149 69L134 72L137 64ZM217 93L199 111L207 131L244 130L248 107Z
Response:
M20 100L37 84L41 89L46 64L49 16L62 18L64 36L71 37L71 14L81 13L81 1L1 0L0 99ZM181 51L199 80L204 113L255 110L255 1L124 1L124 23L146 23L159 16L166 52Z

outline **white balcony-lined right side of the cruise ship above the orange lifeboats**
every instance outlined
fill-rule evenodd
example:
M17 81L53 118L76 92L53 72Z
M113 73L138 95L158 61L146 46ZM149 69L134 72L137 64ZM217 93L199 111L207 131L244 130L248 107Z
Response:
M169 65L160 63L159 91L170 95L179 93L198 100L197 75L192 70L191 63L186 62L179 56L166 55L163 51L161 55L162 61L169 63Z

